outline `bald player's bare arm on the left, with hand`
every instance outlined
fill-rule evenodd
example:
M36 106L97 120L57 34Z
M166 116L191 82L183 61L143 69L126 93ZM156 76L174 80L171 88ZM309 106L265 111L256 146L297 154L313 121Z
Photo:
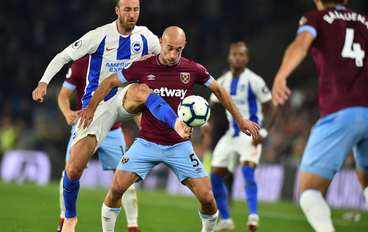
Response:
M93 120L93 114L96 111L96 108L98 104L104 99L107 94L116 86L122 85L123 83L119 80L117 73L114 73L113 75L106 78L96 89L95 93L93 93L93 96L91 100L89 101L86 108L82 110L75 111L73 116L75 116L74 123L78 121L79 118L81 118L81 121L77 125L78 128L81 127L83 121L83 129L88 127L89 124L91 124Z

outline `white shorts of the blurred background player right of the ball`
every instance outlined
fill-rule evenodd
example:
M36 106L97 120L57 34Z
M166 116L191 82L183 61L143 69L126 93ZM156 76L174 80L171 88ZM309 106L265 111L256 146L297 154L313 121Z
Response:
M251 161L258 165L262 144L254 146L252 141L252 137L244 133L236 137L226 133L213 150L211 167L227 168L229 172L234 172L239 161Z

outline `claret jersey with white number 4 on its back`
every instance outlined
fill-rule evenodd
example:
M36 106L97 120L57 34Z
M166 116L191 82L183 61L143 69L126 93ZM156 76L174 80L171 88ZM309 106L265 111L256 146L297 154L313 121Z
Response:
M368 16L343 6L311 11L300 19L297 35L302 32L314 37L321 117L368 106Z

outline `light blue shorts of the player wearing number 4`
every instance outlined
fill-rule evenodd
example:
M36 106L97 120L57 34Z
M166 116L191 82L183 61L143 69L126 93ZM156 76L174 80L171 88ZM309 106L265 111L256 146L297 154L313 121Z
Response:
M368 107L348 107L312 127L301 170L332 179L353 150L357 167L368 174Z

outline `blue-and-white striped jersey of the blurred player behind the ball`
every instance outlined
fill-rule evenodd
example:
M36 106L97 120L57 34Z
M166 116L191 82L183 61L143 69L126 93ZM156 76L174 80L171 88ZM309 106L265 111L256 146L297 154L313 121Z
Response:
M244 72L238 77L233 77L233 74L229 71L218 78L217 82L230 93L243 117L262 127L262 103L272 99L265 81L250 69L245 68ZM210 100L220 103L215 94L211 94ZM227 133L230 133L231 136L238 136L240 130L233 116L227 110L226 116L229 121Z

